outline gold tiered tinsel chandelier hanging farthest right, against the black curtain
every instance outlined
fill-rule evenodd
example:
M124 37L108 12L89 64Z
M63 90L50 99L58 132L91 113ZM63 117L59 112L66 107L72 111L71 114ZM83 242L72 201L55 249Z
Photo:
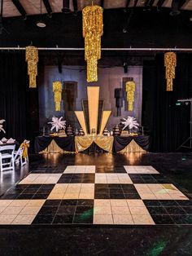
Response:
M175 67L177 65L177 55L174 52L164 54L164 66L166 67L165 78L167 79L167 90L172 90L172 79L175 78Z

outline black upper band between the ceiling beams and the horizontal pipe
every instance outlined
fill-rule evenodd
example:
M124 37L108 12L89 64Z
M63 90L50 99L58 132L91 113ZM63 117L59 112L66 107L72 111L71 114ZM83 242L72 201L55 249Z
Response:
M103 12L103 47L191 47L191 12L169 15L168 9L143 11L111 9ZM57 13L50 19L43 16L46 28L36 26L39 15L4 18L0 46L84 47L81 12L76 15ZM129 19L129 22L128 22ZM126 28L126 33L124 33Z

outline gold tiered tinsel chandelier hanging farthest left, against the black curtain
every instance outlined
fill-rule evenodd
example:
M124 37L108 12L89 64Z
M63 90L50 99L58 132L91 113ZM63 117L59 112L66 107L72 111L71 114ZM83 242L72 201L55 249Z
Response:
M38 49L35 46L27 46L25 50L25 60L28 62L29 87L36 88Z

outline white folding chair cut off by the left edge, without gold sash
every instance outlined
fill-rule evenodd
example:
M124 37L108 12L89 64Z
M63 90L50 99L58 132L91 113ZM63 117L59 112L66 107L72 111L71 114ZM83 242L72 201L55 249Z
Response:
M2 170L15 170L14 165L14 150L15 145L0 145L0 169Z

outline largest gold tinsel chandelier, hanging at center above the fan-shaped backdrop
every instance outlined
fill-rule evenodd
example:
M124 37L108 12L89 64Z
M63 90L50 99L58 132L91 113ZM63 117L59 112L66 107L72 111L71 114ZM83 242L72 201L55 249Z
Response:
M101 36L103 35L103 8L92 3L92 6L83 9L82 14L87 82L97 82L98 60L101 58Z

